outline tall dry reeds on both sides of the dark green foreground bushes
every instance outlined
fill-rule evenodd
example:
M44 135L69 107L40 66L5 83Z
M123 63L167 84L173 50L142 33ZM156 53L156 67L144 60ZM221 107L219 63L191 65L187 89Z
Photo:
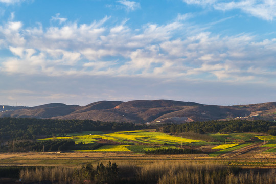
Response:
M80 168L80 166L79 166ZM93 167L95 168L95 167ZM216 163L168 163L158 162L146 166L137 167L130 164L120 164L119 180L124 183L159 183L159 184L182 184L182 183L276 183L276 170L271 169L268 173L240 172L241 168L229 167ZM58 183L73 183L72 167L37 167L35 169L21 170L20 178L25 182L41 182L48 180Z

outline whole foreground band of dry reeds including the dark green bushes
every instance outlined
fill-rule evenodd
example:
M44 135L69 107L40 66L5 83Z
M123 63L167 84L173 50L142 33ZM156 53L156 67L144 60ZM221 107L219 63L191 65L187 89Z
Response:
M43 180L52 183L267 183L275 184L275 169L267 173L241 172L238 167L229 167L214 163L156 163L137 167L118 166L109 162L96 167L91 164L79 168L45 167L21 170L20 178L25 182Z

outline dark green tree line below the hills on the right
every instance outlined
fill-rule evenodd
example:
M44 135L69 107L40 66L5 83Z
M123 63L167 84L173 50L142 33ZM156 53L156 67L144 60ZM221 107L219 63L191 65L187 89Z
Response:
M166 133L227 133L227 132L264 132L276 135L276 122L264 120L229 120L229 121L204 121L204 122L188 122L183 124L173 124L163 127Z

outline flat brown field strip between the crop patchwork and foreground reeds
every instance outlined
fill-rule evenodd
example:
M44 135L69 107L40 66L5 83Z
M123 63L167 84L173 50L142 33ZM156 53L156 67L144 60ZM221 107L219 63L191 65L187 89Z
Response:
M250 157L209 157L198 155L147 155L133 153L1 153L0 166L76 166L86 163L97 164L108 161L117 164L148 165L157 162L219 162L243 167L273 167L276 168L276 154L256 154Z

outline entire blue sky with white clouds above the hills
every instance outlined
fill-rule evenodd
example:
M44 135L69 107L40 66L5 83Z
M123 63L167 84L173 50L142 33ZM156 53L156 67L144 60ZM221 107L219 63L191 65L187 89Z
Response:
M276 0L0 0L0 104L274 102Z

